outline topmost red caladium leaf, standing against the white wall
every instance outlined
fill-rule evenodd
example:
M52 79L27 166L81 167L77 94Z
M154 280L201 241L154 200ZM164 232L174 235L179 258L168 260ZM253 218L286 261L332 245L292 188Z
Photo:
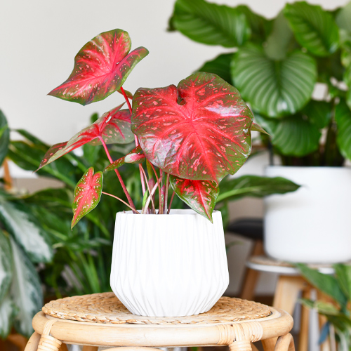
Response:
M74 68L67 81L48 95L88 105L114 93L134 66L149 53L146 48L131 50L127 32L114 29L93 38L74 58Z

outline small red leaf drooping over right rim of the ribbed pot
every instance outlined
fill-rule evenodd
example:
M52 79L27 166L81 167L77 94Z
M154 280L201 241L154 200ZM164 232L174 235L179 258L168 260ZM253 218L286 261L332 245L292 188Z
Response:
M216 205L219 187L211 180L189 180L169 177L174 192L194 211L211 220Z

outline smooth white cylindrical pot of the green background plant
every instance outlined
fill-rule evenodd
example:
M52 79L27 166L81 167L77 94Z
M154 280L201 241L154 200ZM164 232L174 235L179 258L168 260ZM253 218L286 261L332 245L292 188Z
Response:
M266 175L301 185L265 198L266 253L302 263L351 260L351 169L270 166Z

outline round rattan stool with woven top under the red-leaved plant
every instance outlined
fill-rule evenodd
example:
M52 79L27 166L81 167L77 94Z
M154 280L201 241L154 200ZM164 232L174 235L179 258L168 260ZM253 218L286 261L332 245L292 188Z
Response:
M220 298L210 311L194 316L142 317L128 312L113 293L74 296L46 304L32 324L25 351L58 351L61 344L86 345L84 351L216 345L251 351L258 340L265 351L295 350L290 314L238 298Z

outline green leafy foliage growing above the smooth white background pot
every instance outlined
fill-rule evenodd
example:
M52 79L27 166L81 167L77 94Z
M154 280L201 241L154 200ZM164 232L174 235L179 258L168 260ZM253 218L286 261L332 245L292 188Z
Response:
M326 11L297 1L267 20L247 6L177 0L168 30L233 49L198 71L238 88L283 164L341 166L351 159L350 15L351 3Z

